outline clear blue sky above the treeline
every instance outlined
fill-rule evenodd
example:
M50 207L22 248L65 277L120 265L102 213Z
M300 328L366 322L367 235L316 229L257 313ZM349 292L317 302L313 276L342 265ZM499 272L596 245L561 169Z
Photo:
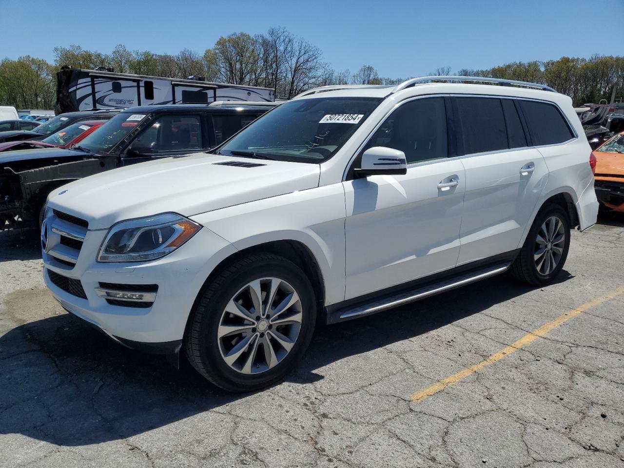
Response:
M271 26L305 37L335 69L370 64L384 77L624 54L621 41L608 39L617 32L608 19L623 16L624 0L595 1L0 0L0 58L52 61L54 46L69 44L203 52L220 36Z

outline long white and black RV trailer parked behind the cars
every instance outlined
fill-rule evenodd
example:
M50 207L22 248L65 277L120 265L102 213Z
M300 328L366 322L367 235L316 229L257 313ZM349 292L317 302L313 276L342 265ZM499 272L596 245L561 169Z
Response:
M61 67L57 72L57 114L74 110L137 105L209 104L218 100L273 102L275 91L254 86L211 83L115 73L112 69L80 70Z

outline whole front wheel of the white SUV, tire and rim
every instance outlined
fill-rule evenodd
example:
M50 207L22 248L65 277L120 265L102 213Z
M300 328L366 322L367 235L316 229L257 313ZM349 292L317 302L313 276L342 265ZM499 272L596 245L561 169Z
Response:
M260 389L295 366L315 322L314 291L303 271L280 256L249 256L203 293L185 338L187 357L223 389Z

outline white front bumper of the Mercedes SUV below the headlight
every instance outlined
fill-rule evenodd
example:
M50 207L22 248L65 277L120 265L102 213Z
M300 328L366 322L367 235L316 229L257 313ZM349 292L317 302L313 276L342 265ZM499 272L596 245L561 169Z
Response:
M59 263L44 251L47 288L67 311L125 346L163 354L168 354L172 348L179 349L188 315L203 283L218 261L236 249L202 228L185 245L158 260L97 263L97 251L106 233L106 230L87 231L73 268ZM82 286L82 291L77 293L76 288L57 286L59 281L55 284L49 271L74 280L73 284ZM100 283L158 285L158 291L149 307L128 307L111 304L99 295Z

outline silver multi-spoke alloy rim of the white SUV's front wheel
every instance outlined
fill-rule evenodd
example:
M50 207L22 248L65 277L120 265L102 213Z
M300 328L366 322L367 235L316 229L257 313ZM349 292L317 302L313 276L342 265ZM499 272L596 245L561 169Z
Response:
M290 353L303 319L295 288L280 278L243 286L223 310L217 339L223 361L242 374L258 374Z

